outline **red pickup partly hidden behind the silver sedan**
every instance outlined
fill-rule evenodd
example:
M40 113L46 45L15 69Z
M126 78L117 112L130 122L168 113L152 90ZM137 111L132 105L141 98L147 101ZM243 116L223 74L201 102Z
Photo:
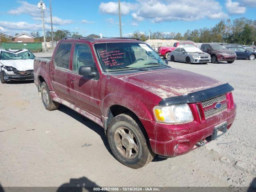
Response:
M170 60L170 52L178 47L197 47L194 43L191 42L176 42L173 47L159 47L158 54L164 56L164 58Z

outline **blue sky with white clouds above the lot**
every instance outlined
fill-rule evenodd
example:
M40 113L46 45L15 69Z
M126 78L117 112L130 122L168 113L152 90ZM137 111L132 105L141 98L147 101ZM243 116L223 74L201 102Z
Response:
M42 34L40 10L35 0L0 0L0 32ZM50 30L49 0L45 28ZM134 31L184 33L211 28L222 19L256 20L256 0L126 0L121 1L122 35ZM83 36L100 33L119 36L118 0L52 0L54 31L66 29Z

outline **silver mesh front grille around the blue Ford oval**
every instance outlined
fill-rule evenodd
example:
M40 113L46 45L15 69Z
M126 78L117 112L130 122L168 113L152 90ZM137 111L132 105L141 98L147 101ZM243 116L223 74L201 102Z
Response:
M212 106L213 104L224 101L224 100L226 100L226 95L222 95L222 96L219 96L219 97L216 97L216 98L213 98L213 99L209 99L209 100L206 100L206 101L202 102L202 107L206 108L208 106ZM227 107L228 107L227 104L222 104L220 108L213 108L213 109L210 109L210 110L204 110L204 116L205 116L206 119L210 118L212 116L215 116L215 115L225 111L227 109Z

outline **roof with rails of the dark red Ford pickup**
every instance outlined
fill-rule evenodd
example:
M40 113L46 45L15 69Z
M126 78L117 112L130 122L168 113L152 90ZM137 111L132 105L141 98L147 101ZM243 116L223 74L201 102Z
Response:
M90 41L93 43L106 43L106 42L142 42L140 39L134 38L88 38L88 37L67 37L63 41Z

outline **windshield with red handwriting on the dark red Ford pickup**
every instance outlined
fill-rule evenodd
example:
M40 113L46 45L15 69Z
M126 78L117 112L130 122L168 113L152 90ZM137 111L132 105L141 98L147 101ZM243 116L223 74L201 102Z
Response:
M167 67L162 58L144 43L100 43L94 47L105 72L129 68Z

